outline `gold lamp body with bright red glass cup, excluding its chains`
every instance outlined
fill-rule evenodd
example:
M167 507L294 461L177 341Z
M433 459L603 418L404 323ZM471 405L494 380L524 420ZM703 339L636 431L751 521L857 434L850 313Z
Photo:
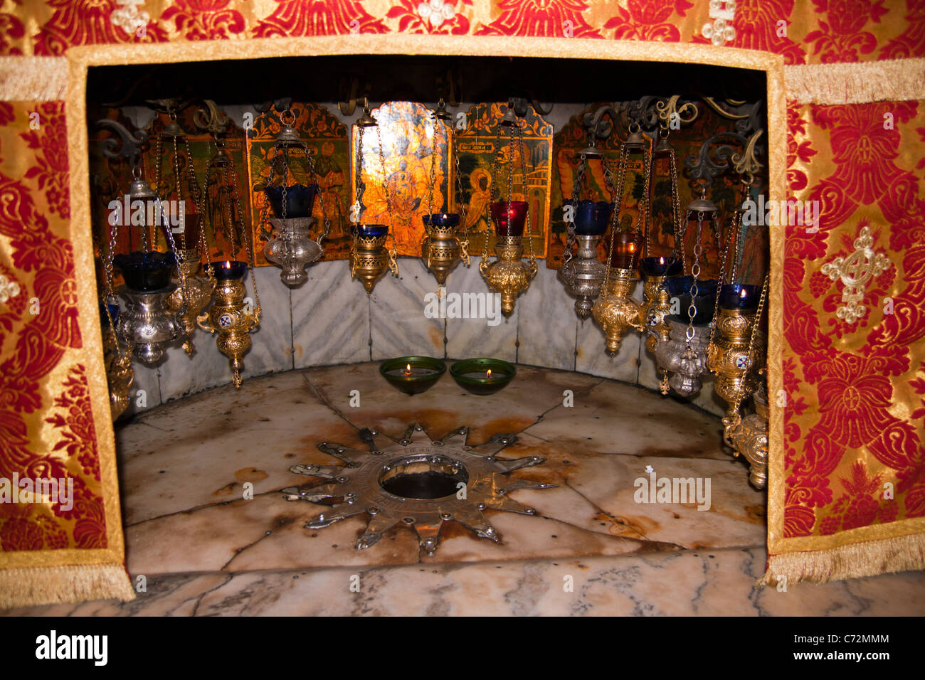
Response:
M501 314L510 316L517 296L526 291L530 281L536 277L536 260L524 262L521 259L524 255L527 203L497 201L491 204L490 210L497 234L495 255L498 259L489 263L488 258L483 257L478 263L478 270L488 288L500 293Z

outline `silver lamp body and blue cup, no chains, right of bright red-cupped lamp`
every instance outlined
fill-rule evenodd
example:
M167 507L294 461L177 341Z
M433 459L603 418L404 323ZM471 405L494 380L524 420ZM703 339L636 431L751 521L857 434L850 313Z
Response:
M579 201L574 208L573 238L577 252L561 266L559 278L565 291L578 298L575 313L579 318L591 314L607 277L607 266L598 260L598 243L607 230L612 209L613 205L607 201Z

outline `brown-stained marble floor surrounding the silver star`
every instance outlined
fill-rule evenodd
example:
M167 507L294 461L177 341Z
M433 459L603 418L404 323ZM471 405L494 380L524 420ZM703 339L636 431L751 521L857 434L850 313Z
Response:
M117 429L129 573L137 600L0 612L52 615L861 615L925 611L925 573L786 592L755 589L765 563L765 495L722 449L716 416L645 389L518 366L494 395L449 375L407 396L377 364L311 368L170 402ZM569 403L568 395L573 402ZM493 542L454 522L428 555L398 525L355 550L364 513L320 529L326 507L279 490L294 464L339 464L322 441L363 448L375 429L431 439L469 427L478 451L541 456L513 478L554 488L510 497L536 514L487 510ZM637 502L638 480L690 478L686 502ZM708 486L709 485L709 486ZM643 499L647 500L647 499ZM656 499L648 499L655 501ZM674 499L681 501L680 499Z

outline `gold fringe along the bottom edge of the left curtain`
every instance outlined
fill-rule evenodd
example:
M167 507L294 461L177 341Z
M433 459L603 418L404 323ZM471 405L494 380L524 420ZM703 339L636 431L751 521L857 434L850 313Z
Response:
M86 600L135 599L121 564L0 569L0 609Z

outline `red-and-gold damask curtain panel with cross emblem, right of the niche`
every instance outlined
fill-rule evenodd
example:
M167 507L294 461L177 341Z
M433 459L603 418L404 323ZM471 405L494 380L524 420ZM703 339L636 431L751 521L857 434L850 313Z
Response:
M820 219L784 241L771 551L920 532L925 102L791 102L787 118L789 191Z

